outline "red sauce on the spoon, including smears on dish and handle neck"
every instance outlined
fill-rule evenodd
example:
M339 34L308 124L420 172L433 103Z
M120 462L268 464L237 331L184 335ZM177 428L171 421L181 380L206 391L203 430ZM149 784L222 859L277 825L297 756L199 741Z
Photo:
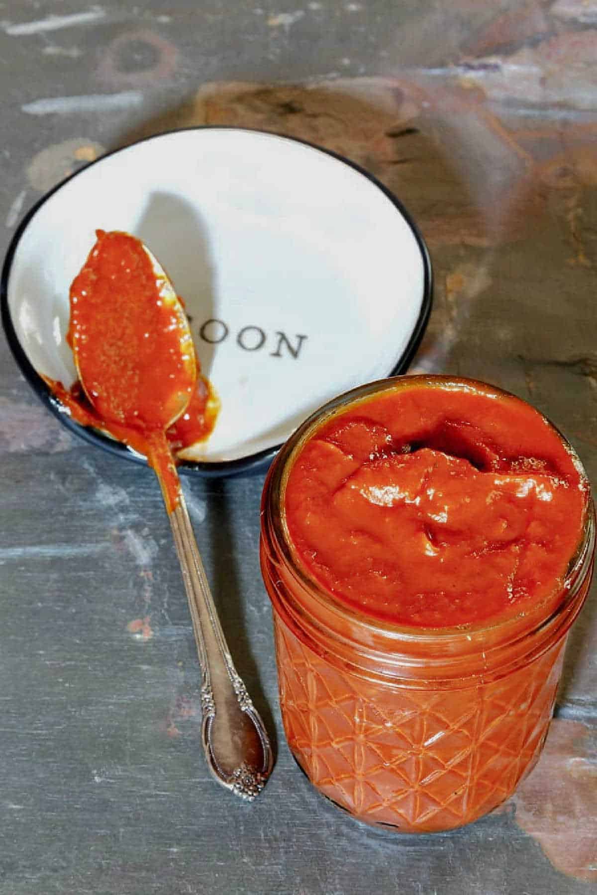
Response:
M47 382L75 422L148 457L172 511L180 486L171 451L209 436L217 401L141 241L116 231L97 237L70 292L67 341L85 390L81 381L70 389ZM184 404L184 419L171 425Z

